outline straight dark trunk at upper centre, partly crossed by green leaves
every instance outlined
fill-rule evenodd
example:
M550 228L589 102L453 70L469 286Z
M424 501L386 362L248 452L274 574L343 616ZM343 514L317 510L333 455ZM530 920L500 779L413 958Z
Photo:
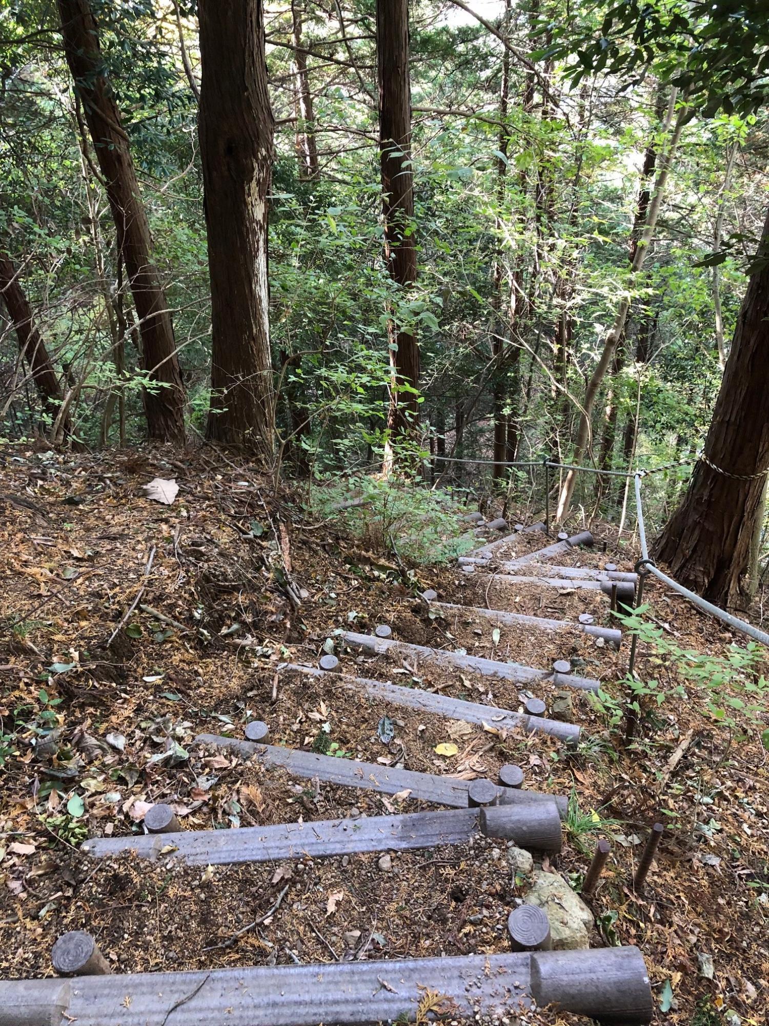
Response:
M376 0L376 68L379 85L379 160L385 213L385 256L393 280L416 281L413 233L414 176L411 168L411 84L408 0ZM388 428L391 438L417 422L419 347L416 336L390 331L392 386ZM392 452L386 465L392 467Z

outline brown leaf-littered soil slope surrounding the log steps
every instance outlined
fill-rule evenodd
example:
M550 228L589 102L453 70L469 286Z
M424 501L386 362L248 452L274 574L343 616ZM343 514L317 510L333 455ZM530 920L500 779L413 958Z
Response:
M86 836L140 832L147 803L158 800L173 804L186 829L419 807L192 745L200 732L241 736L248 719L261 718L274 741L290 747L317 747L324 733L340 756L466 779L515 761L527 787L574 795L565 851L550 868L578 885L598 837L611 839L591 902L593 942L642 948L655 1022L765 1022L766 708L750 716L735 709L731 725L720 724L681 660L647 643L637 669L660 683L641 699L636 739L623 744L611 709L574 693L585 739L576 751L371 702L327 680L281 674L276 683L279 663L314 663L330 640L346 672L521 707L521 686L361 657L334 634L389 623L402 640L540 669L569 659L572 672L599 678L619 702L629 645L617 654L577 631L518 627L501 627L495 640L495 625L472 613L431 619L416 597L427 587L444 601L563 620L590 611L597 624L616 626L600 592L505 586L454 566L409 575L393 554L362 549L333 522L306 515L300 488L276 495L254 468L211 449L109 457L17 449L3 459L3 976L49 975L53 941L75 929L93 933L122 972L330 961L351 951L386 963L505 950L504 920L521 882L503 850L486 840L396 855L388 870L377 855L207 869L172 859L96 862L78 852ZM145 498L141 485L155 476L175 477L173 505ZM617 541L608 525L594 532L606 553L599 544L556 561L600 567L611 559L633 568L632 539ZM496 560L549 541L519 536ZM300 594L298 606L290 593ZM651 584L647 595L647 617L681 649L723 656L742 643L664 589ZM756 679L765 670L759 665ZM532 692L552 698L547 684ZM386 715L396 728L389 744L377 737ZM455 755L436 753L445 742L456 744ZM665 834L638 895L630 880L655 821ZM579 1021L541 1016L553 1026Z

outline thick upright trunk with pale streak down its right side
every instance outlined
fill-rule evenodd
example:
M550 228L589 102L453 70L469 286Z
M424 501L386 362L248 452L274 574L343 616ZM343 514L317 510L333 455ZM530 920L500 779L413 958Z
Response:
M262 0L200 0L200 155L211 280L207 435L274 446L268 192L273 114Z

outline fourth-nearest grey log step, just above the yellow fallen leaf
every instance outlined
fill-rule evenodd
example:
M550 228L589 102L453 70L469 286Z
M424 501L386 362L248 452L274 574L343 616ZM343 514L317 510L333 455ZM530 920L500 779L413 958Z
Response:
M281 673L301 673L306 676L322 677L323 671L314 666L299 666L295 663L282 663L278 670ZM547 734L559 741L576 744L579 740L579 727L573 723L556 722L542 716L527 716L525 713L514 712L512 709L497 709L496 706L477 705L463 699L452 699L438 692L423 692L419 687L404 687L387 680L370 680L368 677L349 677L339 675L334 679L334 685L348 690L362 692L368 698L391 702L393 705L417 709L420 712L446 716L449 719L462 719L466 723L485 723L501 731L515 731Z

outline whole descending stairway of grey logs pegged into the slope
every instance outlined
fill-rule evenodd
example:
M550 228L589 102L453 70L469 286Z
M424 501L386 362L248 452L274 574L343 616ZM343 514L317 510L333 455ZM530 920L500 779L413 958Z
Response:
M534 524L520 529L530 536L542 527ZM578 546L591 545L593 539L586 531L508 558L509 550L516 547L518 532L482 545L459 560L460 569L489 580L523 581L534 588L567 587L588 594L606 591L612 601L617 595L626 597L634 587L634 575L621 574L616 567L583 570L550 561ZM533 576L515 573L532 568L536 570ZM420 600L431 618L485 620L500 630L523 626L534 638L547 635L551 640L570 633L588 635L597 645L610 649L621 643L618 630L595 624L589 614L584 614L582 622L565 622L440 601L433 591L424 592ZM608 608L608 601L603 601ZM579 724L555 715L561 708L554 698L556 689L566 687L578 695L596 690L600 684L597 679L573 674L568 660L559 659L544 667L526 666L463 650L413 644L391 637L392 633L388 625L371 635L337 632L338 658L326 654L320 665L283 663L278 672L297 686L307 681L327 688L341 687L402 709L484 727L493 724L497 731L524 732L567 745L578 742ZM365 661L366 675L359 673L361 660ZM531 660L537 662L535 652ZM418 679L417 664L459 675L462 680L502 681L515 701L511 701L510 708L499 708L387 679L389 671L401 665L408 666ZM518 686L525 688L520 695ZM551 717L545 715L549 708L554 713ZM566 708L571 708L570 700ZM196 739L199 746L227 749L265 766L280 766L292 776L398 795L432 807L356 821L335 819L199 831L179 830L172 811L156 805L146 820L148 828L154 825L156 832L90 838L84 842L83 852L92 858L133 852L154 862L176 859L190 865L233 865L431 849L468 844L483 837L536 853L555 855L561 851L565 796L527 789L523 786L524 774L517 766L502 766L494 781L467 780L289 749L267 741L269 725L260 721L248 724L246 740L216 735ZM617 1026L651 1020L651 991L637 948L548 950L547 918L533 906L522 908L531 915L519 915L520 908L511 912L510 953L241 966L118 978L100 975L106 962L88 935L68 934L57 942L58 953L54 948L54 968L76 979L0 982L0 1026L47 1026L54 1022L77 1022L78 1026L102 1026L106 1022L111 1026L173 1026L176 1022L189 1026L315 1026L320 1022L373 1026L380 1021L416 1020L426 988L443 995L452 1019L468 1022L513 1021L510 1017L519 1012L551 1002L564 1011ZM518 926L514 926L514 919ZM545 920L544 929L537 934L540 919ZM387 985L382 983L386 977Z

